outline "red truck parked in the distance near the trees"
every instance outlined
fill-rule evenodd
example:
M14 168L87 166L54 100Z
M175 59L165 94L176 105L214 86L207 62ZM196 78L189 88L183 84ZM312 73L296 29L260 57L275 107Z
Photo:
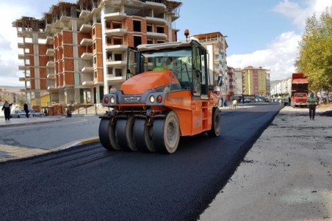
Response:
M293 73L292 75L292 101L293 108L306 107L308 99L308 79L303 73Z

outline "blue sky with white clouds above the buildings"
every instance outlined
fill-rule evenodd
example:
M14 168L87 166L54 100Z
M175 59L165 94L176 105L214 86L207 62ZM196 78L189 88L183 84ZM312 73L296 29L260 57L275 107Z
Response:
M175 0L179 1L179 0ZM77 2L68 0L67 2ZM174 23L183 39L190 35L221 32L227 36L227 64L233 68L254 66L270 70L271 80L291 77L307 17L318 18L332 0L182 0L180 18ZM6 0L0 3L0 85L24 86L12 21L22 16L42 18L57 0Z

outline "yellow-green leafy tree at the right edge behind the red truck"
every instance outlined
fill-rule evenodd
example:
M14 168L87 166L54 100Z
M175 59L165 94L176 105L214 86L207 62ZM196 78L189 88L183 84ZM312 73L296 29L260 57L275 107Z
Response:
M299 41L298 72L308 77L309 88L315 92L332 86L332 7L326 8L320 19L306 19L306 28Z

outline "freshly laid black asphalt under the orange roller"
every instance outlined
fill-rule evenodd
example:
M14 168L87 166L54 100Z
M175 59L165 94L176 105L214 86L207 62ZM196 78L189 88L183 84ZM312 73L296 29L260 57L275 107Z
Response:
M98 143L0 164L0 218L197 220L280 108L223 111L221 136L182 137L172 155Z

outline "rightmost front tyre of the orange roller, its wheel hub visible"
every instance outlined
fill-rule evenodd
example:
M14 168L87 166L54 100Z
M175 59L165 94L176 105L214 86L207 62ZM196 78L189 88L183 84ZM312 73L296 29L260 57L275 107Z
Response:
M152 131L154 146L160 153L174 153L180 142L180 124L174 111L167 114L165 119L154 120Z

